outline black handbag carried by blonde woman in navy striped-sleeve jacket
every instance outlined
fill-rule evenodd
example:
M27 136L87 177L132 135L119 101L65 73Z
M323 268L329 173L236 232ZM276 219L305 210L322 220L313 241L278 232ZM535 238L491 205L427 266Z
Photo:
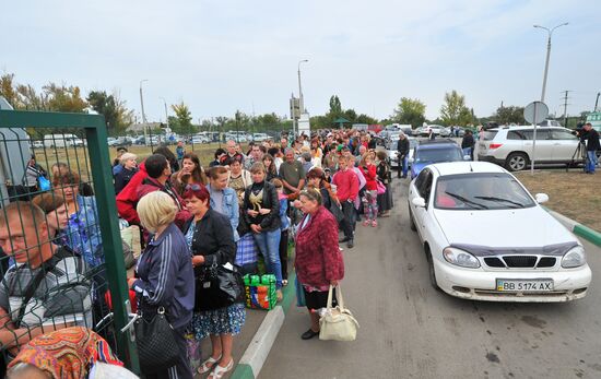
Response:
M175 331L160 307L154 315L139 311L135 320L135 343L140 368L144 374L155 374L176 365L180 352Z

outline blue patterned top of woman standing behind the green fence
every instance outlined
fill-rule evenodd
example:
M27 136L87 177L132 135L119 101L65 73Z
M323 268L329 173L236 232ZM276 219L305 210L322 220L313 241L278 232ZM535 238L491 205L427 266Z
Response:
M78 194L76 201L79 210L69 216L69 224L61 232L60 238L63 245L80 253L90 267L95 268L104 263L96 199Z

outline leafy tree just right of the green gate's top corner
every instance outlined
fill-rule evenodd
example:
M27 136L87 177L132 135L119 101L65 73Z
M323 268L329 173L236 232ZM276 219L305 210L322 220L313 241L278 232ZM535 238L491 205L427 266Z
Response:
M103 115L109 134L121 134L133 121L133 111L126 107L117 94L108 95L106 91L92 91L87 103L99 115Z

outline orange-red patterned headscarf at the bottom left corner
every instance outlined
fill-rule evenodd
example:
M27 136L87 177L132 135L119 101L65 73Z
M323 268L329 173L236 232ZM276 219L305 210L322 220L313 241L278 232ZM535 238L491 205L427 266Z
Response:
M33 339L21 348L9 368L24 363L49 374L52 379L81 379L96 362L123 366L102 336L90 329L73 327Z

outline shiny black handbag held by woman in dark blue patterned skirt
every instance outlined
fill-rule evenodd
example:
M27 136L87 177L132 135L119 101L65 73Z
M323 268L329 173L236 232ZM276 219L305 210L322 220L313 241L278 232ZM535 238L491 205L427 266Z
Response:
M195 280L195 311L224 308L244 301L244 282L239 268L213 263L201 267Z

